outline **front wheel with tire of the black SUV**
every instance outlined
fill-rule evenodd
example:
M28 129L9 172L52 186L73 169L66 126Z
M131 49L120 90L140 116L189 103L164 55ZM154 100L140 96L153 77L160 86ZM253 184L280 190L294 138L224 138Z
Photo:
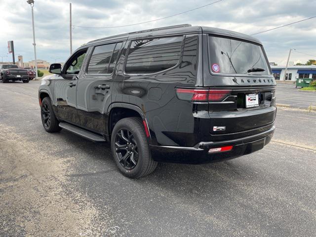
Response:
M50 98L45 97L40 105L40 118L46 132L58 132L61 130L59 121L55 117Z

